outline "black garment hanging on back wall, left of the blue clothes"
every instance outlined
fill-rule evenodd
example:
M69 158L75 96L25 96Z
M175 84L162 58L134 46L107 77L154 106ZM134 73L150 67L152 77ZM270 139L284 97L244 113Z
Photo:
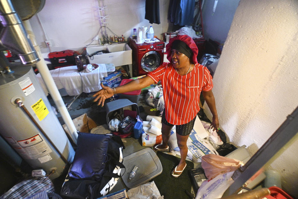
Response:
M160 24L159 0L146 0L145 19L151 24Z

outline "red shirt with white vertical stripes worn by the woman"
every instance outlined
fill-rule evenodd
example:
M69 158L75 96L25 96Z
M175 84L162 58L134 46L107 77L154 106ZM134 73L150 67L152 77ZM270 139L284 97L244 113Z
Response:
M190 122L200 110L200 93L213 87L209 70L195 64L191 72L179 75L171 63L163 63L147 74L156 83L161 82L165 101L165 118L170 124Z

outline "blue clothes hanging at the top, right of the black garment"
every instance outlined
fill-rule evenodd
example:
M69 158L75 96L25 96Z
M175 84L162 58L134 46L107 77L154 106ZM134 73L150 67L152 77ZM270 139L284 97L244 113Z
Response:
M191 25L194 8L195 0L170 0L168 20L175 25Z

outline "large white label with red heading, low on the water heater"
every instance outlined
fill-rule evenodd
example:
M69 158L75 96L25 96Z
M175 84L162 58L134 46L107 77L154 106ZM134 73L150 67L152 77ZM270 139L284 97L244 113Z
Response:
M39 134L25 140L18 140L17 142L30 157L30 159L41 158L52 152L46 141L44 141Z

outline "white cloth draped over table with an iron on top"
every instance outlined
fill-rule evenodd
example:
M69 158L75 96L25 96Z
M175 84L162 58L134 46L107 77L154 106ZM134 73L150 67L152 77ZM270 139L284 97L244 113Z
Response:
M50 73L58 89L65 89L69 96L74 96L82 92L90 93L101 89L100 81L107 76L107 72L112 72L113 67L111 67L111 64L97 65L98 68L92 72L86 72L85 70L78 72L77 66L67 66L50 70ZM49 92L40 73L36 77L44 92L48 95Z

